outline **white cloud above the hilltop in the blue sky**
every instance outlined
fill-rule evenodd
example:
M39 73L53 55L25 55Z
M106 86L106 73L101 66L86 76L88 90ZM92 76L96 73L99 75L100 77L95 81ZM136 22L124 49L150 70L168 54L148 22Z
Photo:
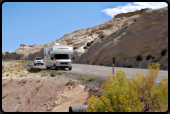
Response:
M127 13L132 12L144 8L151 8L151 9L157 9L166 7L168 4L166 2L133 2L128 3L124 6L117 6L115 8L106 8L102 10L101 12L106 13L108 16L111 16L114 18L114 15L120 14L120 13Z

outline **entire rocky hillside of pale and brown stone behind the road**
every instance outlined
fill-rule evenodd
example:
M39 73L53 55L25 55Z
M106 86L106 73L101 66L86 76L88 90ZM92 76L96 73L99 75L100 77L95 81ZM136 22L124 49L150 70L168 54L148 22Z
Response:
M21 54L27 59L43 57L44 46L54 43L73 45L74 63L111 66L115 57L118 67L147 68L148 63L159 62L161 69L168 70L168 8L118 14L105 23L76 30L54 42L20 47L15 55L3 53L3 58L20 59L16 55Z

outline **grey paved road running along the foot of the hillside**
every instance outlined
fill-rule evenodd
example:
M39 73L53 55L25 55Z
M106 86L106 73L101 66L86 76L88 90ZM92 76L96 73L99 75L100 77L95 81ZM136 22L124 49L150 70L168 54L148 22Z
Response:
M35 68L46 69L45 65L34 66L33 61L27 60L27 62L29 62L30 65ZM136 76L137 71L139 70L142 70L145 76L148 73L147 69L114 67L114 73L116 73L118 70L123 70L125 72L127 80L130 80L132 78L132 75ZM72 64L71 71L69 71L68 69L65 69L65 71L63 72L107 77L109 74L112 73L112 67L99 66L99 65L86 65L86 64ZM159 84L163 78L168 78L168 71L160 70L155 83Z

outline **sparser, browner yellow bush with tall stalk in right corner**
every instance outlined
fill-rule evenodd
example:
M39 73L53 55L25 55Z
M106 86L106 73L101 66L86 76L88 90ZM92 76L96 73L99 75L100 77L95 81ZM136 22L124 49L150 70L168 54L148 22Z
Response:
M138 76L133 77L131 81L139 100L143 103L142 111L144 112L168 109L168 79L163 79L160 85L154 85L159 69L159 63L149 64L146 76L142 71L138 71Z

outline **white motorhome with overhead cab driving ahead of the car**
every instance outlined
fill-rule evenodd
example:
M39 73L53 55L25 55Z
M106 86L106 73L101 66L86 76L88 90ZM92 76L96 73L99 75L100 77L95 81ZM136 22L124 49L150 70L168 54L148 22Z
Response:
M46 68L72 69L71 54L74 53L72 45L60 45L55 43L44 47L44 64Z

